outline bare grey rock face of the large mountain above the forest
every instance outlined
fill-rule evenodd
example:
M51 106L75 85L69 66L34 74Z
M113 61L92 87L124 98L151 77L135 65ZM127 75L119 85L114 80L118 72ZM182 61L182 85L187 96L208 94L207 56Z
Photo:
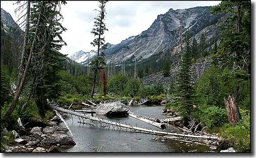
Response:
M122 60L144 60L160 51L173 48L178 52L179 36L184 38L185 31L189 28L191 39L199 41L201 33L205 33L206 40L212 38L216 31L219 16L209 13L210 7L195 7L190 9L170 9L165 14L157 16L151 27L140 35L132 36L117 45L106 49L106 62L114 59L116 64ZM83 61L87 64L91 60Z

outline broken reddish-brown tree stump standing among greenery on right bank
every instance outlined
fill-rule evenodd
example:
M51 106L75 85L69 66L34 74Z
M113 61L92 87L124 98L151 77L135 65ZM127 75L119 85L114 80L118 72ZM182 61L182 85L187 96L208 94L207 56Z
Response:
M237 123L241 119L238 102L235 97L229 94L228 99L224 99L227 109L228 121L230 123Z

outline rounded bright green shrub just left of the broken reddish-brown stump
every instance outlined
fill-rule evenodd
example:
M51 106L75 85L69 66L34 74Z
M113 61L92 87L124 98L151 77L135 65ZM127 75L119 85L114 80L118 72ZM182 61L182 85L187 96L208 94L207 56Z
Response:
M225 109L212 106L201 110L201 121L208 128L221 126L227 122L227 113Z

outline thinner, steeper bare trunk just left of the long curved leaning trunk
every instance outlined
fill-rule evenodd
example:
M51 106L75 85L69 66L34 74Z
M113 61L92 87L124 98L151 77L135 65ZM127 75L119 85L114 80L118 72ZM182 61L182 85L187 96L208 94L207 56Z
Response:
M21 81L21 78L23 76L23 68L24 68L24 58L25 58L25 51L26 51L26 48L27 48L27 42L28 42L28 33L29 33L29 18L30 18L30 1L27 2L27 19L26 19L26 31L25 31L25 34L24 34L24 41L23 41L23 49L22 49L22 55L21 55L21 58L20 58L20 65L19 65L19 72L18 72L18 84L17 84L17 88L19 87L20 85L20 81Z

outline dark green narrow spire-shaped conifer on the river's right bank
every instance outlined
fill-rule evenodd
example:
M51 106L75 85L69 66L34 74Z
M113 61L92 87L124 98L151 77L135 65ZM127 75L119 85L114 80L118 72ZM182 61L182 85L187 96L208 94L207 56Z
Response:
M190 58L190 46L189 46L189 33L186 32L186 47L183 53L181 67L177 78L176 96L178 98L177 103L182 117L184 118L184 124L187 123L188 118L195 105L195 93L193 77L194 73L191 69L191 58Z

